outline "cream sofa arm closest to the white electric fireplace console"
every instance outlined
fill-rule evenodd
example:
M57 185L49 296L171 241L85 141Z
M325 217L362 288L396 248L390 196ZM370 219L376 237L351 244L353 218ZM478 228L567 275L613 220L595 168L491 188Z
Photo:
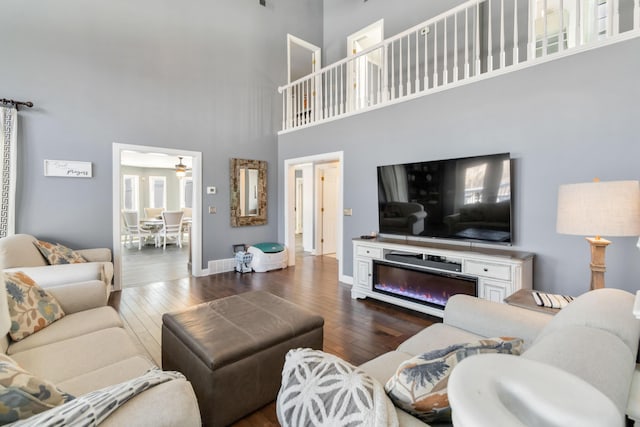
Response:
M551 314L458 294L447 301L443 321L483 337L522 338L527 348L552 318Z

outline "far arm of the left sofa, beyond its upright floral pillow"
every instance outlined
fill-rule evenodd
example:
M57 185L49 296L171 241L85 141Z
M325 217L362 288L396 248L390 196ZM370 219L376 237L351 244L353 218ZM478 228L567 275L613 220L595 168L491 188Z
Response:
M109 298L107 286L101 280L53 286L47 292L58 300L65 314L104 307Z

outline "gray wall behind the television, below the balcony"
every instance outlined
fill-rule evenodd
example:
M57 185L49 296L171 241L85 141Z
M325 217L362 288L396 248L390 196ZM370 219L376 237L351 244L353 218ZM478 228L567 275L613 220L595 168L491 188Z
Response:
M511 152L514 248L536 254L536 289L577 295L589 288L589 246L556 233L558 186L640 179L639 51L636 38L283 134L279 164L344 150L344 207L353 208L344 217L344 273L351 275L351 238L378 228L376 166ZM609 239L606 285L635 291L638 239Z

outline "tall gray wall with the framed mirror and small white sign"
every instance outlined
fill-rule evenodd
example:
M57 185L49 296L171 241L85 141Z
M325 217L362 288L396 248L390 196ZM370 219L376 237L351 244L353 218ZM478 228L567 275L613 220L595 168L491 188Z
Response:
M112 143L203 153L203 261L277 233L276 132L286 34L322 42L317 0L4 0L0 97L20 113L17 232L111 246ZM229 223L229 158L269 163L268 225ZM44 159L91 161L92 179L45 178Z

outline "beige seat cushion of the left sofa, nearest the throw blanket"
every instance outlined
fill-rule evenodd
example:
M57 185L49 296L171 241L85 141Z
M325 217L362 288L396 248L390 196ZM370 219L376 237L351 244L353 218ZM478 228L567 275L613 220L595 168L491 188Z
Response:
M109 328L15 353L12 357L25 369L59 384L139 354L123 328Z

